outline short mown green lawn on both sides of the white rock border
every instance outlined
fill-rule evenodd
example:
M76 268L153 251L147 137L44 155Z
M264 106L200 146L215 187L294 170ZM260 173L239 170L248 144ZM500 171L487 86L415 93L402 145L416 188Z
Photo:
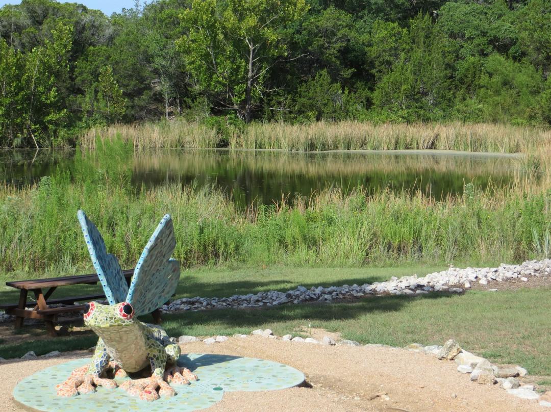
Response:
M298 285L331 286L372 283L417 273L423 276L444 267L403 268L290 268L183 270L176 298L225 297L258 291L295 289ZM2 284L6 276L0 277ZM3 286L2 286L3 287ZM92 286L90 286L91 288ZM82 294L82 288L61 288L63 294ZM66 290L63 290L66 289ZM87 292L85 292L87 293ZM17 301L18 291L3 289L0 302ZM531 375L551 375L551 290L469 291L464 295L429 294L418 297L368 297L330 305L283 305L251 310L216 310L169 314L163 327L171 336L182 334L232 335L270 328L277 335L308 334L307 326L340 332L344 339L362 344L410 343L442 345L456 339L462 348L495 363L518 364ZM543 310L542 310L543 309ZM144 321L150 321L144 317ZM39 333L39 332L36 332ZM42 333L42 332L40 332ZM45 331L44 331L45 333ZM0 337L0 356L37 355L52 350L86 349L94 335L55 339L22 339L6 344Z

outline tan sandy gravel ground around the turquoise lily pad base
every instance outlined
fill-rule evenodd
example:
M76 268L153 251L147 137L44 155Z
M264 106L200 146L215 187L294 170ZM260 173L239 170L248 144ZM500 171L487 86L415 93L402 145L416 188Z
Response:
M321 340L323 331L313 337ZM214 411L542 411L537 400L514 397L497 386L471 382L452 361L404 349L328 346L260 336L230 338L224 343L182 345L182 353L211 353L268 359L293 366L306 375L307 386L266 392L229 392ZM35 360L0 361L0 411L21 412L12 398L14 386L45 367L88 357L85 351ZM200 378L200 377L199 377Z

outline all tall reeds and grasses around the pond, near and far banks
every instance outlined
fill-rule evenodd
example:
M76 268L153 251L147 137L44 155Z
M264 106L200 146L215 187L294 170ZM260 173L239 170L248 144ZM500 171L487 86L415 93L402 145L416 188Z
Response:
M147 142L157 142L160 147L168 141L160 138L165 132L180 136L171 140L180 144L184 133L175 131L188 128L186 141L195 139L199 145L202 137L193 137L191 131L206 130L197 125L184 127L183 123L155 127L150 126ZM337 130L340 132L334 132ZM0 187L0 271L18 270L41 277L47 271L89 270L76 219L78 209L87 212L102 232L107 250L125 267L136 263L164 213L174 218L175 257L187 267L518 262L540 257L545 251L545 230L551 222L547 160L551 140L545 130L354 122L253 124L242 135L250 139L254 135L255 148L277 148L278 144L285 150L354 148L351 136L355 136L361 147L371 149L414 148L415 144L418 148L451 149L453 142L462 142L463 146L455 148L494 148L525 155L517 161L515 182L506 188L482 192L467 184L463 196L435 199L430 191L395 193L387 189L371 194L363 187L349 192L327 187L292 202L282 196L272 206L252 205L247 210L237 210L226 194L214 187L132 187L129 170L139 158L132 148L148 145L145 138L136 137L141 131L143 128L115 127L106 131L104 140L96 140L94 132L86 146L96 150L80 153L71 170L22 189ZM348 140L342 137L346 131ZM368 139L368 131L378 137ZM279 142L270 137L276 135ZM374 142L379 143L372 147ZM534 236L538 236L539 247Z

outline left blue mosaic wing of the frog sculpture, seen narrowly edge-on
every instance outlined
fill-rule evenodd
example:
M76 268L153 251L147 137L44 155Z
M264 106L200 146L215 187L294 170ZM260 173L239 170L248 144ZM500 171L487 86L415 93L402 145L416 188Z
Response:
M103 237L96 229L93 221L88 219L88 216L82 210L79 210L77 215L86 241L86 247L90 252L101 286L104 288L105 297L107 297L110 305L125 301L128 285L125 275L122 273L121 265L118 264L117 257L114 254L107 253Z

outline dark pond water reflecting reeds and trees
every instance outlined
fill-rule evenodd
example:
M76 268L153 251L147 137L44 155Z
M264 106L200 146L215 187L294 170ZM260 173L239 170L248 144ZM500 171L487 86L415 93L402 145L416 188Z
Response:
M71 167L74 150L0 151L0 182L28 185ZM215 185L237 207L272 204L282 198L310 196L336 187L368 193L422 191L436 200L461 196L464 185L502 188L514 181L515 155L452 151L287 151L171 149L139 151L133 156L132 183L151 187L179 182Z

